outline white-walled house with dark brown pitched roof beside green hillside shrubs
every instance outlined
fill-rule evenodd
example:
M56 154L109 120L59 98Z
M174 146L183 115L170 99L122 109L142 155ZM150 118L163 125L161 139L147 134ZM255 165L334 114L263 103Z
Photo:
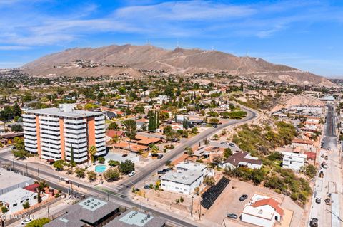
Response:
M219 167L225 169L235 169L237 167L248 167L250 169L260 169L262 161L257 157L252 157L248 152L236 152L227 160L219 164Z

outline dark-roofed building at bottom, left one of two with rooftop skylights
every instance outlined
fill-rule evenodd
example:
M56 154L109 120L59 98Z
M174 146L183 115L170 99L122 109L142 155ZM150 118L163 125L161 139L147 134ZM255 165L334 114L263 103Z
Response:
M89 197L66 209L66 213L44 227L98 227L120 215L119 205Z

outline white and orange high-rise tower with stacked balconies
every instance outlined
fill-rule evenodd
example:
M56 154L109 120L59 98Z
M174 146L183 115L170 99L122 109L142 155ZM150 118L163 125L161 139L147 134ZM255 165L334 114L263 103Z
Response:
M89 160L89 147L96 156L106 153L105 117L101 112L74 110L74 105L29 110L23 115L24 142L28 152L42 159L71 159L77 163Z

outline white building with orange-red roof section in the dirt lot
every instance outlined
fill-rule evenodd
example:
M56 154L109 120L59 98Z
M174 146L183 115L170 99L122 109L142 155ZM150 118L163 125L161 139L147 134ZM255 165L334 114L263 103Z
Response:
M254 194L244 207L242 221L255 226L272 227L284 215L284 210L279 205L273 198Z

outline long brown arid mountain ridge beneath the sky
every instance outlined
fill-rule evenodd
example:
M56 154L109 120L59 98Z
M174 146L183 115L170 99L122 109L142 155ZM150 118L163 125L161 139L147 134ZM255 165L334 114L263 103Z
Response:
M76 61L79 62L75 63ZM80 62L82 62L80 64ZM86 66L82 65L88 62ZM89 64L90 62L90 64ZM286 65L275 65L262 58L238 57L220 51L200 49L166 50L155 46L104 46L101 48L71 48L44 56L23 66L26 73L37 76L99 76L126 74L144 76L138 70L165 70L189 75L227 71L265 80L287 83L333 85L318 75Z

